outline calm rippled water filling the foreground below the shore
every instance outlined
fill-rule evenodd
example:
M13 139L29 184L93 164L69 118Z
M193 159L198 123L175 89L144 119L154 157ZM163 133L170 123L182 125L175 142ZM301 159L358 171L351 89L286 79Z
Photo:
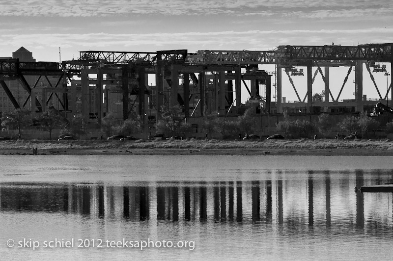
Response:
M392 159L0 156L0 257L391 260Z

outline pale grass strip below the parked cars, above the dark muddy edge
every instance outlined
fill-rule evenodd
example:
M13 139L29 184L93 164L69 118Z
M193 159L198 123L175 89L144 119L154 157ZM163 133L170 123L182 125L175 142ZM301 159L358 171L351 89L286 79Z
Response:
M68 149L69 141L0 141L0 150L30 150L34 147L40 150ZM136 141L72 141L73 149L108 150L108 149L370 149L392 150L393 141L381 140L340 140L340 139L285 139L285 140L217 140L217 139L189 139L189 140L136 140Z

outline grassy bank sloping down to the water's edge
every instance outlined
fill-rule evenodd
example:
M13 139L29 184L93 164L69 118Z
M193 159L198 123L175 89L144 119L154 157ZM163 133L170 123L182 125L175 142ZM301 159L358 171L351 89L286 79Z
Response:
M379 152L377 155L393 155L393 141L391 140L335 140L335 139L286 139L286 140L262 140L262 141L238 141L238 140L167 140L167 141L72 141L72 150L69 149L69 142L65 141L1 141L0 154L12 154L11 152L21 151L29 154L32 148L37 147L39 152L58 151L59 153L77 154L90 151L100 152L140 152L143 154L162 154L164 151L179 152L184 151L214 151L214 154L229 154L231 152L251 152L263 154L281 152L288 154L297 152L299 154L312 155L313 151L334 152L338 150L351 150L357 155L356 151ZM156 150L152 150L156 149ZM301 153L302 152L302 153ZM173 153L172 153L173 154ZM182 154L182 153L181 153ZM280 154L280 153L279 153ZM341 154L341 153L340 153Z

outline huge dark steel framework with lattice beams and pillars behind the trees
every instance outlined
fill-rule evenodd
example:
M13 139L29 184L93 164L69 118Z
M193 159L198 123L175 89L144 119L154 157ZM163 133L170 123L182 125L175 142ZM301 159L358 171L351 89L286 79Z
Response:
M82 113L92 127L99 127L108 113L117 115L119 120L135 113L150 128L160 117L164 104L183 106L185 118L191 123L213 112L223 117L238 116L250 106L259 117L283 112L352 113L371 111L377 103L368 101L363 94L364 69L373 82L371 88L377 90L378 102L388 103L391 86L387 86L386 95L382 95L372 73L385 72L387 80L390 76L392 82L393 75L387 72L389 66L386 65L390 63L392 71L392 46L393 43L279 46L272 51L205 50L196 53L187 50L83 51L78 60L60 63L5 57L0 58L0 84L15 108L30 106L33 113L40 113L55 99L64 117ZM268 73L261 69L263 65L274 65L276 69ZM334 97L332 88L337 86L330 86L330 68L337 66L347 67L348 72L339 86L338 96ZM352 71L355 72L355 99L341 101L340 95ZM321 94L313 93L318 73L324 81ZM283 97L284 75L298 98L295 102L286 102ZM27 76L35 76L35 82L28 82ZM303 99L292 76L307 77ZM47 86L36 89L43 78ZM149 79L154 84L149 86ZM7 84L10 81L21 83L27 95L24 103L15 99ZM392 101L393 93L390 98Z

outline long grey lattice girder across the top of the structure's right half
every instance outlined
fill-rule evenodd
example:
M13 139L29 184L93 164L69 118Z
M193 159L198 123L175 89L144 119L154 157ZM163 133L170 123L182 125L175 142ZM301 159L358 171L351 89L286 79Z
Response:
M358 46L279 46L274 51L198 51L190 54L191 64L296 64L298 62L325 61L340 65L347 61L366 60L391 62L392 43Z

